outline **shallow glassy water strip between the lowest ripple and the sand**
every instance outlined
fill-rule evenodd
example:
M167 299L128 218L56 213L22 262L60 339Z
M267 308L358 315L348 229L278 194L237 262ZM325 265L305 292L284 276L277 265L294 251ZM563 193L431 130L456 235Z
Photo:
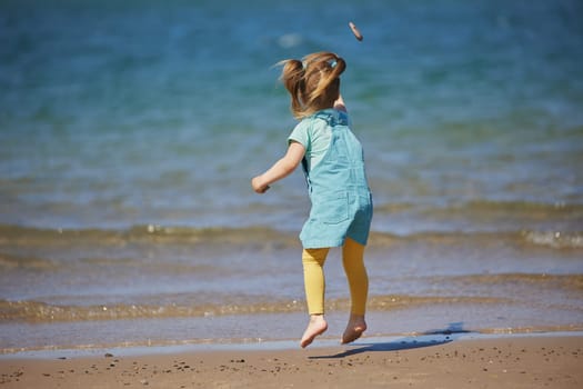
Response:
M540 308L501 305L432 305L390 311L372 310L368 313L369 329L365 337L583 332L583 317L576 311L566 315L561 310L544 311ZM318 343L335 346L345 327L345 311L331 311L328 315L329 331L318 338ZM0 326L0 358L14 353L44 353L50 358L56 352L91 356L94 350L109 349L133 353L150 353L157 348L162 352L232 347L271 349L278 345L293 349L304 325L304 312L50 323L6 322Z

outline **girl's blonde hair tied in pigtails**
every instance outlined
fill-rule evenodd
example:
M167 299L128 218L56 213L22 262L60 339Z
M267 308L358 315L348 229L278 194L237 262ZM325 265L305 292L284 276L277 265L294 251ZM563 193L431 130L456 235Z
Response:
M340 74L346 62L333 52L315 52L302 60L288 59L283 66L281 81L291 94L291 111L298 119L321 109L332 108L340 96Z

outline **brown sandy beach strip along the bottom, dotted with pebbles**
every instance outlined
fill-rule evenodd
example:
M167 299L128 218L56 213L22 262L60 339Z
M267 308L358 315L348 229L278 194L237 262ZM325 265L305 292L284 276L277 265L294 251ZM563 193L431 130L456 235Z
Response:
M583 337L0 359L1 388L581 388Z

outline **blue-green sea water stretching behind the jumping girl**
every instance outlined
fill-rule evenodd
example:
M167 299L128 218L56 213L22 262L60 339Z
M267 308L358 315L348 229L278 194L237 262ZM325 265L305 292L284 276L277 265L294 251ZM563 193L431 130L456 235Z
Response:
M132 320L162 342L199 325L254 337L265 312L303 323L303 177L265 196L249 180L294 126L273 64L319 50L348 61L372 315L392 322L375 331L416 313L433 318L420 331L581 327L581 14L574 0L3 1L0 348L96 328L139 342Z

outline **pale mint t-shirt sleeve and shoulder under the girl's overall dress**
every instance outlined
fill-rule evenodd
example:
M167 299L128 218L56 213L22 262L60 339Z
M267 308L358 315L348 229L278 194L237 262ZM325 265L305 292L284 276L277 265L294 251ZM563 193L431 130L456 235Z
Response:
M335 114L348 116L346 112L335 109L325 109ZM316 112L318 113L318 112ZM308 171L315 167L324 158L330 140L332 139L332 128L324 120L314 118L314 114L303 118L293 129L288 142L295 141L305 148L305 160L308 161Z

